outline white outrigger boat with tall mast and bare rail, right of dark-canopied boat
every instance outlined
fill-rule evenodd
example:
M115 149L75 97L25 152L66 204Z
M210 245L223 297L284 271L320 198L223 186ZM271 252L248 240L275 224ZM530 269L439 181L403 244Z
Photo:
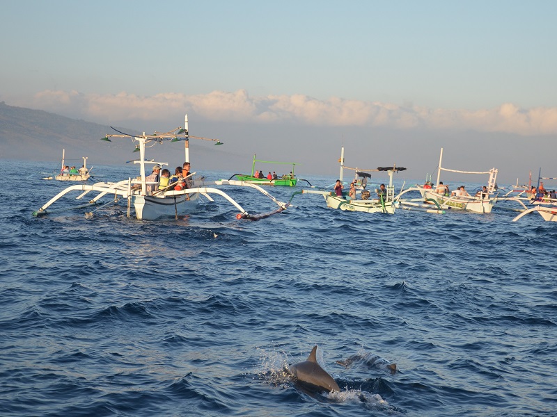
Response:
M449 170L441 166L441 161L443 158L443 148L441 148L441 155L439 156L439 169L437 171L437 183L434 188L425 188L424 186L416 186L413 188L408 188L404 192L400 193L397 200L401 203L408 204L413 202L413 200L400 200L400 197L409 193L413 190L418 190L421 193L422 200L426 204L435 204L438 209L456 209L463 211L472 211L473 213L491 213L494 204L497 201L497 196L491 197L496 194L496 178L497 172L495 168L485 172L473 172L473 171L460 171L460 170ZM441 177L441 171L447 172L458 172L460 174L489 174L489 180L487 181L487 193L478 192L477 195L447 195L448 193L441 193L441 188L443 184L440 183L439 179ZM441 186L439 186L441 184ZM439 190L439 192L438 192Z

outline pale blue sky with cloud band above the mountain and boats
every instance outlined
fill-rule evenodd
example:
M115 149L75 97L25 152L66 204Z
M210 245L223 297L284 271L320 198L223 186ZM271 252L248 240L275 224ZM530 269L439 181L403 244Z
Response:
M139 131L188 113L192 135L223 136L248 167L257 152L317 174L337 171L343 142L360 167L382 156L423 169L445 147L455 169L498 163L510 179L555 160L557 1L4 0L0 11L10 106Z

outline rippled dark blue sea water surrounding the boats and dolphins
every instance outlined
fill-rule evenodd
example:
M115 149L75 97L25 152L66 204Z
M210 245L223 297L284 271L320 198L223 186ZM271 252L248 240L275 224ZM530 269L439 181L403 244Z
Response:
M48 169L0 161L2 416L557 415L556 223L350 213L318 195L257 222L217 198L179 220L33 218L69 185ZM285 375L314 345L341 393Z

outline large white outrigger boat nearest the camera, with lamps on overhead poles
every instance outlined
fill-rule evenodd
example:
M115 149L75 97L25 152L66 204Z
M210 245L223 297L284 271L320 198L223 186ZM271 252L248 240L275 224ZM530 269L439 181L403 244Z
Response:
M112 128L114 129L114 128ZM114 129L116 131L116 129ZM201 195L207 198L210 201L214 201L211 195L220 195L224 199L226 199L230 204L232 204L235 208L237 208L240 213L236 215L237 219L251 219L251 220L258 220L259 218L264 218L269 215L280 213L281 211L285 210L288 207L288 204L278 201L272 195L267 193L265 190L260 188L259 186L251 183L246 183L243 181L218 181L214 183L214 185L229 185L229 186L246 186L250 188L255 188L256 190L260 191L263 195L266 195L273 202L278 205L278 209L269 212L269 213L262 213L262 214L252 214L248 213L240 204L238 204L232 197L230 197L227 193L219 188L208 187L205 185L203 179L201 181L194 181L192 184L193 188L185 188L183 190L175 190L172 186L168 186L166 188L156 190L151 192L150 189L152 187L157 186L157 183L153 183L148 181L148 177L146 176L146 165L159 165L164 166L168 165L166 162L158 162L153 160L146 160L145 152L146 147L152 147L157 144L162 144L163 142L178 142L178 141L185 141L185 149L186 149L186 161L189 161L189 139L196 138L202 140L212 140L215 145L221 145L221 141L217 139L209 139L209 138L202 138L198 136L189 136L188 133L188 122L187 122L187 115L185 117L185 127L182 128L181 126L177 129L172 131L168 131L166 133L159 133L155 132L152 135L146 135L143 133L142 135L132 135L117 131L119 134L107 134L105 138L102 140L107 140L111 142L110 138L131 138L132 142L135 142L136 149L139 149L139 160L133 161L136 164L139 164L139 171L140 175L136 178L129 178L124 179L122 181L118 181L116 183L95 183L93 185L74 185L66 188L65 190L58 193L55 197L50 199L46 204L41 206L37 211L33 212L33 215L38 217L42 215L47 215L49 213L53 213L54 211L62 211L68 210L72 208L86 208L91 206L97 205L104 205L104 204L117 204L120 201L123 201L127 204L127 217L130 217L130 213L132 211L132 207L134 208L134 215L138 220L157 220L160 218L166 217L174 217L178 218L178 215L185 215L187 213L191 213L192 211L196 210L196 206L198 204L199 198ZM131 161L130 161L131 162ZM198 183L201 182L201 183ZM211 183L209 183L211 185ZM58 208L58 209L50 209L49 207L52 204L58 202L59 199L68 195L68 193L72 192L79 192L80 194L76 197L76 199L84 199L86 195L89 193L95 193L95 196L89 198L85 204L80 204L78 206L72 206L69 208ZM101 198L104 196L113 196L112 202L103 203L101 202Z

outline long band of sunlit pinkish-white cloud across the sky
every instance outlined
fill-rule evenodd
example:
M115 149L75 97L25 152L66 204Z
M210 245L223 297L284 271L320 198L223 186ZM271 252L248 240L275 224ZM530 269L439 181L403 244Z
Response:
M393 129L457 129L545 135L557 133L557 108L519 108L505 103L476 111L399 106L379 101L306 95L251 97L246 90L214 91L204 95L160 93L149 97L46 90L31 103L52 113L85 120L157 120L192 113L221 122L296 122L318 126L384 126Z

